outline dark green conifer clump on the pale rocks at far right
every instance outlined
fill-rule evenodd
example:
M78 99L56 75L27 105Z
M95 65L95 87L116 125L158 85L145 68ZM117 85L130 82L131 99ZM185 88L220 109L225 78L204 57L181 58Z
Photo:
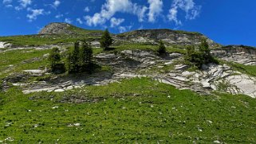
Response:
M201 42L199 49L195 46L187 47L187 54L185 56L188 64L195 65L197 68L202 68L203 64L217 63L213 56L211 56L209 45L206 40Z

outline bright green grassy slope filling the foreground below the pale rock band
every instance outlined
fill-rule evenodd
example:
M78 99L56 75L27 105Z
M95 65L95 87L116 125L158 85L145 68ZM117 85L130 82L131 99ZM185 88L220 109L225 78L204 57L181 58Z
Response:
M0 141L14 143L253 143L256 102L198 95L143 79L64 93L1 93ZM88 103L68 103L70 99Z

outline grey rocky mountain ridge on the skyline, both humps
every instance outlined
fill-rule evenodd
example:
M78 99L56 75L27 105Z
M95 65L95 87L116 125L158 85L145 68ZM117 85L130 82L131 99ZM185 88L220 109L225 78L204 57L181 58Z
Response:
M49 25L45 25L45 27L41 29L38 34L87 35L89 37L93 36L99 38L102 33L103 31L101 30L82 29L66 23L53 22ZM167 45L199 45L202 39L207 39L207 42L211 47L219 46L219 44L212 41L202 33L173 29L137 29L125 33L112 33L112 36L117 43L148 42L157 44L160 40L162 40Z

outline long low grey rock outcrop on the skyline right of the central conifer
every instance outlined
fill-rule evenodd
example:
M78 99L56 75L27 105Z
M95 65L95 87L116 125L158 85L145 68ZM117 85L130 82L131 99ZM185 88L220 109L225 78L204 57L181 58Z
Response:
M116 41L157 43L162 40L169 45L199 45L202 39L207 37L201 33L171 29L141 29L118 34L115 38ZM211 47L219 46L209 38L207 38L207 42Z

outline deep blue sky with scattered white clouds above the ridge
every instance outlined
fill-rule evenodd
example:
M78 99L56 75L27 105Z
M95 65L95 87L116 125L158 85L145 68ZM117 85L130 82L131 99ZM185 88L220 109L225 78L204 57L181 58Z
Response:
M181 29L223 45L256 46L255 0L0 0L0 36L68 22L112 33Z

